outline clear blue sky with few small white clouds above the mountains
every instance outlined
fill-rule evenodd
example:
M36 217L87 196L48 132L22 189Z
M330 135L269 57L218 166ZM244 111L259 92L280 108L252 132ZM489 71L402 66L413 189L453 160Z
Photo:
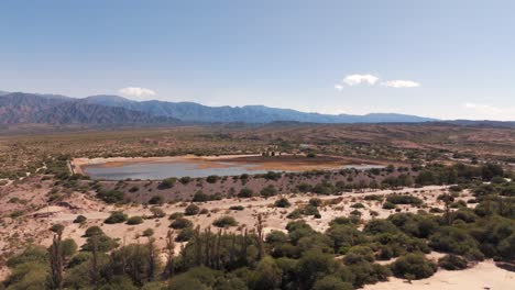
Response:
M0 90L515 121L515 1L1 0Z

